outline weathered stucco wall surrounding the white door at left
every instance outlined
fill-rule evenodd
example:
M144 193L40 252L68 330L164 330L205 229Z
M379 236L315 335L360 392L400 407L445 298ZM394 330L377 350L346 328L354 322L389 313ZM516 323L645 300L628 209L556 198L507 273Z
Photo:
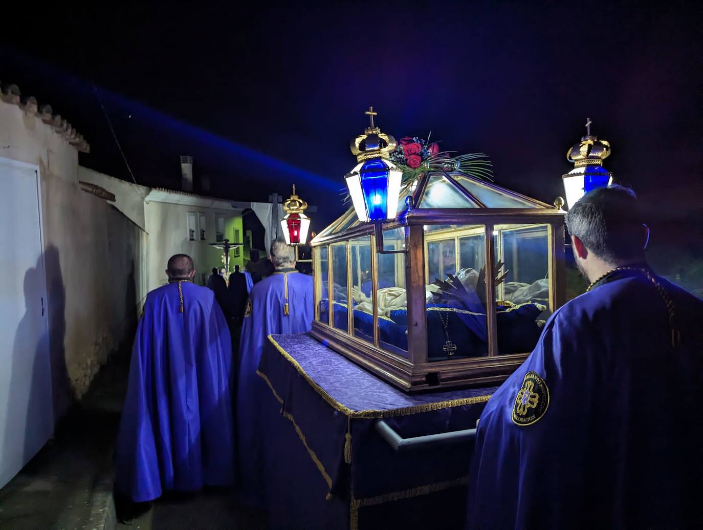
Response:
M131 263L144 260L143 230L79 187L78 153L36 115L0 101L0 156L37 165L41 175L54 417L81 397L122 342ZM11 251L11 249L4 249ZM142 265L136 271L143 270ZM138 277L138 272L134 278ZM136 280L135 280L136 281ZM118 289L119 286L119 289ZM135 284L134 291L143 289ZM136 292L140 300L143 293Z

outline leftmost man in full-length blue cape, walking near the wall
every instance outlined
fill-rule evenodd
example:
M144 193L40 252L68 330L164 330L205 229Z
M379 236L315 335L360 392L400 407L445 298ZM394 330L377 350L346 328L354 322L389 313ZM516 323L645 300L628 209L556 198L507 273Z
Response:
M166 273L139 320L117 434L115 490L133 503L234 483L227 324L191 258L174 255Z

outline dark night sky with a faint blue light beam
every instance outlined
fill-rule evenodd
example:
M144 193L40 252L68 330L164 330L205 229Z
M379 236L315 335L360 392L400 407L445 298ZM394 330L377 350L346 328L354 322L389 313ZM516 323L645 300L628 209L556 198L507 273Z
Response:
M236 200L295 182L321 207L316 229L342 211L370 105L385 132L484 151L498 184L548 203L590 117L612 145L606 168L654 222L695 220L700 234L697 3L243 4L4 16L0 81L86 137L82 165L129 178L94 80L138 182L178 187L191 154L196 180Z

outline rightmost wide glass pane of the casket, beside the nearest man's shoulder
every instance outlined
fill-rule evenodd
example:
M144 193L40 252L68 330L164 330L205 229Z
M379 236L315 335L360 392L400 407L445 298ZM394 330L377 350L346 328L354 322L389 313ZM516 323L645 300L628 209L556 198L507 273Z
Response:
M549 317L548 225L496 225L498 353L529 353Z

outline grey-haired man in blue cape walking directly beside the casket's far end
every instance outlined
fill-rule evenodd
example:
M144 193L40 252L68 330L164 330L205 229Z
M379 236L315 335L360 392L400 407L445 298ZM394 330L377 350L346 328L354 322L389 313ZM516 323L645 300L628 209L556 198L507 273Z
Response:
M262 504L261 438L257 396L271 393L257 375L266 337L307 333L313 313L312 277L295 269L292 246L282 239L271 244L273 275L254 284L247 300L239 346L237 385L237 452L243 500Z

